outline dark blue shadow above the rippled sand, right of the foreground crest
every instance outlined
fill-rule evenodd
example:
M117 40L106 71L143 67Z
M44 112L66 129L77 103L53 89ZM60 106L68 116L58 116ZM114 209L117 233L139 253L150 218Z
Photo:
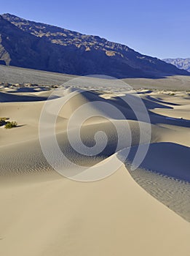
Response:
M143 154L146 145L140 145L139 150ZM126 165L138 164L138 159L135 159L138 146L131 147L130 154L127 157ZM190 148L179 145L177 143L151 143L149 150L143 162L140 163L140 168L150 170L151 172L161 173L165 176L170 176L175 179L190 182Z

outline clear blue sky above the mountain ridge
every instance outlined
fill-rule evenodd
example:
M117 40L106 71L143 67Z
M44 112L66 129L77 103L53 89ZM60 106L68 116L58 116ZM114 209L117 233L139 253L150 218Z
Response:
M190 57L189 0L6 0L1 13L95 34L140 53Z

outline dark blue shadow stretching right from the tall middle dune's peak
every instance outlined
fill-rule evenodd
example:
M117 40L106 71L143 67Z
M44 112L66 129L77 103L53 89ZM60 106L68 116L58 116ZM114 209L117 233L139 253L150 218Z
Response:
M139 97L136 97L135 95L132 94L127 94L124 97L113 97L111 99L104 99L103 97L100 97L99 93L96 92L92 92L92 91L82 91L80 92L80 95L82 95L82 97L84 97L87 102L96 102L96 101L100 101L100 102L105 102L108 104L113 105L114 107L116 107L118 110L121 111L121 113L123 114L124 118L127 120L132 120L132 121L146 121L147 122L147 118L144 118L144 110L138 108L138 105L142 105L142 103L144 104L144 106L146 107L146 110L149 113L149 118L150 118L150 122L151 124L168 124L168 125L174 125L174 126L181 126L181 127L190 127L190 121L183 119L183 118L170 118L169 116L162 116L158 113L152 113L151 110L155 109L155 108L163 108L163 109L173 109L173 107L171 106L166 106L166 105L162 105L159 102L153 102L149 99L141 99ZM79 96L76 95L75 97L73 97L71 100L69 100L69 104L72 107L72 111L74 111L76 108L79 108L79 106L81 105L77 100L77 97ZM132 106L130 106L130 104L128 104L127 102L132 102ZM163 103L163 102L162 102ZM134 106L134 109L140 113L140 115L137 116L135 115L135 111L134 109L132 109ZM136 108L137 107L137 108ZM97 108L99 109L99 106L97 105ZM149 111L150 110L150 111ZM113 118L112 113L110 110L108 109L100 109L101 113L106 113L106 115L109 118ZM115 117L114 117L115 118ZM118 116L118 118L116 118L117 120L121 119L122 117ZM141 119L140 119L141 118Z

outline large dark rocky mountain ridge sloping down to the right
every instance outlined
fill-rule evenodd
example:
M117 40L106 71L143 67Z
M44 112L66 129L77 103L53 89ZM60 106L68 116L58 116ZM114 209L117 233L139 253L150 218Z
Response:
M103 74L116 78L189 75L126 45L10 14L0 16L0 61L73 75Z

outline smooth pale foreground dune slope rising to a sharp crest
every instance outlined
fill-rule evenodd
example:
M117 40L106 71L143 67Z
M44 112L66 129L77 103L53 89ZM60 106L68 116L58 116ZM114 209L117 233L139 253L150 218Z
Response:
M90 184L3 187L0 197L1 255L189 255L190 224L124 167Z

